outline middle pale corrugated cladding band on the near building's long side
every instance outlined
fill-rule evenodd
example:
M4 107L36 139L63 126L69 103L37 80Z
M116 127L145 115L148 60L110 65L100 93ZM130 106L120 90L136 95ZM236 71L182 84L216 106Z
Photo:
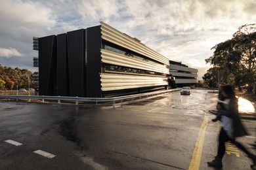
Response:
M169 69L165 65L158 63L142 61L137 58L132 58L125 56L123 54L118 54L116 52L111 52L109 50L101 50L101 61L103 63L110 63L114 65L121 65L124 67L131 67L135 69L143 69L147 71L154 71L157 73L169 74Z

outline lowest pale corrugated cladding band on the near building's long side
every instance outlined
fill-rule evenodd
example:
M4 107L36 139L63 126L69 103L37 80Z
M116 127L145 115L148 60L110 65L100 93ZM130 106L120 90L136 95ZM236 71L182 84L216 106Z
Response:
M167 85L161 76L139 76L124 74L100 74L102 91L142 88Z

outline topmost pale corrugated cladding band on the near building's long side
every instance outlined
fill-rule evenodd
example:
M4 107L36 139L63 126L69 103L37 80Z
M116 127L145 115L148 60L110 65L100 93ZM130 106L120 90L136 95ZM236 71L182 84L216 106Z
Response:
M143 56L146 56L148 58L152 58L165 65L169 65L169 59L165 58L165 56L162 56L161 54L148 48L144 44L135 41L135 39L129 37L128 35L117 31L117 29L114 29L113 27L105 24L104 22L100 22L100 24L102 39L117 44L119 46L123 46L124 48L142 54Z

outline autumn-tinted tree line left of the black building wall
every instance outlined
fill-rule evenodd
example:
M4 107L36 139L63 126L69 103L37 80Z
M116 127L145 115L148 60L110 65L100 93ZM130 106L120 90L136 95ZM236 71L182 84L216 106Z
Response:
M5 67L0 64L0 90L16 90L26 88L28 90L28 84L30 88L38 86L36 82L33 82L33 75L38 72L32 73L28 69L19 69L18 67L12 69L11 67Z

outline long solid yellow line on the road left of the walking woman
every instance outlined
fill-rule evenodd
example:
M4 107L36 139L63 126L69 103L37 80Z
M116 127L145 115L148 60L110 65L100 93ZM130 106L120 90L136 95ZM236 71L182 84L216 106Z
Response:
M192 154L192 160L190 162L189 170L198 170L200 167L200 161L203 150L203 140L205 135L205 129L208 123L208 119L206 117L203 118L202 126L200 128L198 139L196 141L196 146L194 148L194 152Z

